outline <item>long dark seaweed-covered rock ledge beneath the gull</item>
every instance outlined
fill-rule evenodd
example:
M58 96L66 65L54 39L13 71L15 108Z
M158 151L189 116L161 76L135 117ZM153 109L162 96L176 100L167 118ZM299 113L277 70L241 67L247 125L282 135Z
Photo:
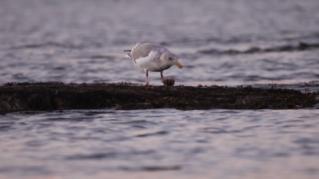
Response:
M313 107L318 92L293 89L23 83L0 86L0 113L64 109L295 109Z

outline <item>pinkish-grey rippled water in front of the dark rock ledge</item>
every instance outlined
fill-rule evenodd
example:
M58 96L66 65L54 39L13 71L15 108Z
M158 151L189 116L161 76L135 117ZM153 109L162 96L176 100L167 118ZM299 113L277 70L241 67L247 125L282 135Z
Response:
M311 178L318 117L315 109L11 113L1 116L0 176Z

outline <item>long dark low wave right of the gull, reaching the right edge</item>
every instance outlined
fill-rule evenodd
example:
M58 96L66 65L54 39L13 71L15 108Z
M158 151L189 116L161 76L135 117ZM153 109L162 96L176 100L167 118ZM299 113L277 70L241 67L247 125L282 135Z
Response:
M253 53L268 53L268 52L290 52L290 51L304 51L319 48L319 43L304 43L299 42L298 45L283 45L278 47L260 48L251 47L247 50L240 51L235 49L218 50L207 49L200 50L198 53L211 54L211 55L237 55L237 54L253 54Z

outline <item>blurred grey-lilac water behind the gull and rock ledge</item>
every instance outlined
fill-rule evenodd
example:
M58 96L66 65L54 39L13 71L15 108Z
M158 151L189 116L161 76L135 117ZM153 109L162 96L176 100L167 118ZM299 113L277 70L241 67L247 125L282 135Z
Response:
M123 52L137 42L160 43L179 56L184 68L164 72L177 85L300 84L319 77L318 0L0 3L0 84L142 84L143 70ZM300 42L314 47L300 50ZM287 46L293 48L280 51ZM245 53L254 48L273 51ZM160 85L159 73L150 79Z

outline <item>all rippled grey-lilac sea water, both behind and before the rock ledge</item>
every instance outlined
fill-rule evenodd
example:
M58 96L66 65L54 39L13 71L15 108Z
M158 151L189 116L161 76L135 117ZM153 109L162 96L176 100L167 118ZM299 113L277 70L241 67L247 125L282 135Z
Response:
M0 84L143 84L165 45L176 85L319 90L318 0L0 0ZM306 45L305 45L306 44ZM149 73L161 85L160 73ZM70 110L0 115L0 178L314 178L319 111Z

